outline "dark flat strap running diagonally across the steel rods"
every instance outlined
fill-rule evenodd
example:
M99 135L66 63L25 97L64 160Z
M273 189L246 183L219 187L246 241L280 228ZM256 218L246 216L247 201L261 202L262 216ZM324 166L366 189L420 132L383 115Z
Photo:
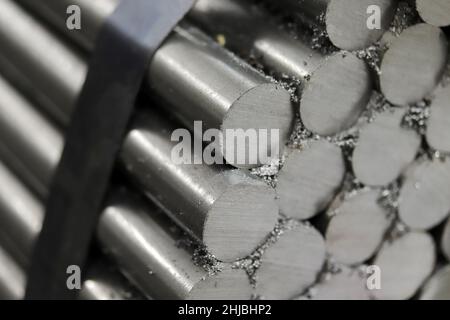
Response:
M83 270L150 59L193 2L125 0L102 28L50 187L27 299L76 297L67 268Z

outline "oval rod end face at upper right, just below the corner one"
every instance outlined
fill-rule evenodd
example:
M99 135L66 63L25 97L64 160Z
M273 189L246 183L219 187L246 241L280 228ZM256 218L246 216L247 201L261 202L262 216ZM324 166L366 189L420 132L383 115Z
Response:
M406 29L384 55L381 91L396 105L422 100L439 84L447 57L448 41L441 29L424 23Z

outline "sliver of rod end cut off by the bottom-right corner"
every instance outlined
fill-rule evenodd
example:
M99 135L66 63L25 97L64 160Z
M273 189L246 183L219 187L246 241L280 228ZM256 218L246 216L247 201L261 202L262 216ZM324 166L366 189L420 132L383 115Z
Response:
M450 265L438 270L425 283L420 300L450 300Z

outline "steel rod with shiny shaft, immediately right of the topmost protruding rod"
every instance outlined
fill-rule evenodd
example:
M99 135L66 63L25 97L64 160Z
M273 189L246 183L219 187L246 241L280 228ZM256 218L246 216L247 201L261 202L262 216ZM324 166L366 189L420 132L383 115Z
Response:
M188 17L225 46L261 62L283 79L300 80L300 116L314 133L333 135L354 124L372 92L370 72L351 53L323 55L282 32L271 17L238 0L199 0Z

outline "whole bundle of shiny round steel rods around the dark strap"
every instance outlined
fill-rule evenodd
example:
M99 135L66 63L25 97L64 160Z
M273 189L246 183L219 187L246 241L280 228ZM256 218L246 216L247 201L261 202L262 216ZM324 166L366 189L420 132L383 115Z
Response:
M2 299L118 2L0 0ZM448 0L198 0L148 67L79 298L450 299L449 25ZM281 154L176 163L195 121L277 129Z

